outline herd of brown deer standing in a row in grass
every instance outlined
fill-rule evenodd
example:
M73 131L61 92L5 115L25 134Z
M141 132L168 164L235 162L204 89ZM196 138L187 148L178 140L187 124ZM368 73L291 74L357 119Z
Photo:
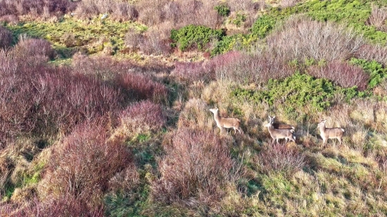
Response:
M232 128L234 129L234 134L236 131L239 133L243 133L241 129L241 120L234 118L234 117L220 117L219 110L217 108L210 109L210 112L214 114L214 119L216 122L217 127L219 127L220 132L222 133L222 130L224 128ZM272 137L272 143L274 141L277 141L279 143L279 139L285 139L285 143L288 142L288 140L293 141L293 143L296 143L296 131L295 127L291 126L289 124L278 124L274 123L275 116L270 117L269 115L269 124L266 124L267 130L270 133L270 136ZM326 140L329 138L334 139L337 138L338 142L342 143L342 138L344 134L344 129L342 128L326 128L325 127L326 120L323 120L319 122L317 127L320 131L320 136L322 137L322 144L326 144Z

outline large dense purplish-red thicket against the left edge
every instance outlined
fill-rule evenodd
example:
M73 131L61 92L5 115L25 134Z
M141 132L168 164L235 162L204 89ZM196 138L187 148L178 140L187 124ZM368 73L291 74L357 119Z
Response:
M46 55L26 55L21 48L0 53L2 143L20 133L66 133L83 121L114 114L120 107L117 88L66 67L48 66ZM23 49L28 46L23 44Z

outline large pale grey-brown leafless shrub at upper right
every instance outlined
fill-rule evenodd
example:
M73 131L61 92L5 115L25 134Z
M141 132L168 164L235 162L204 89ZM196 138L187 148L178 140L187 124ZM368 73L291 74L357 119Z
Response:
M269 51L282 60L345 60L363 44L352 29L302 16L289 19L283 29L267 37Z

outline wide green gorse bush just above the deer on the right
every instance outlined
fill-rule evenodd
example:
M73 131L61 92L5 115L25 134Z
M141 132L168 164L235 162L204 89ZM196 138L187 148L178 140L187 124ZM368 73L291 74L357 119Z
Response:
M308 74L293 74L284 80L270 79L265 90L236 88L231 97L242 98L253 102L265 101L269 105L286 105L289 114L296 112L296 107L311 105L322 111L334 103L335 93L348 93L347 100L357 96L355 88L340 88L328 79L315 79Z

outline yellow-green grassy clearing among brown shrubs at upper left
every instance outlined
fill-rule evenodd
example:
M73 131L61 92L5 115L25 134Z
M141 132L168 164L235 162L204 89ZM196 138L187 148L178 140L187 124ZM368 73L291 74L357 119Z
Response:
M111 46L113 51L118 53L124 48L125 33L128 29L146 31L146 27L137 22L101 22L99 18L89 21L73 18L63 18L59 22L30 21L6 27L13 32L15 39L18 39L20 34L46 39L64 56L68 56L66 54L72 53L73 50L97 53L106 46Z

